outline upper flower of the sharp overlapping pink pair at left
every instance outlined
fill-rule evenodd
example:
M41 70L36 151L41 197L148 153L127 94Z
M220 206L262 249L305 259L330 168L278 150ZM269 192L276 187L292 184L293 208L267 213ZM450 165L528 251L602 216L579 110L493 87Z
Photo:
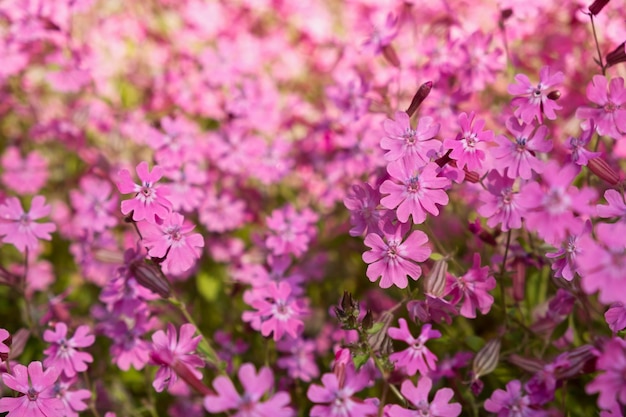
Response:
M122 214L127 215L133 212L134 221L146 220L151 223L155 223L157 217L166 219L172 209L172 204L166 198L167 188L157 183L163 176L163 170L155 165L150 172L148 163L140 162L137 165L137 175L141 180L140 184L133 182L127 169L119 172L117 188L120 193L135 193L133 199L122 201Z

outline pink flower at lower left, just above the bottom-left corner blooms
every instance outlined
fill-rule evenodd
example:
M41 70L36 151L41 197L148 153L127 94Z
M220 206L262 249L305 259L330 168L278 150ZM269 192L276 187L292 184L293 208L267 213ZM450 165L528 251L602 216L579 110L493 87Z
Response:
M77 348L93 345L96 338L89 334L89 330L87 325L79 326L70 338L67 337L67 325L63 322L56 323L54 331L46 330L43 339L51 345L44 351L47 356L44 365L47 368L56 367L69 378L77 372L86 371L87 363L93 362L93 357Z

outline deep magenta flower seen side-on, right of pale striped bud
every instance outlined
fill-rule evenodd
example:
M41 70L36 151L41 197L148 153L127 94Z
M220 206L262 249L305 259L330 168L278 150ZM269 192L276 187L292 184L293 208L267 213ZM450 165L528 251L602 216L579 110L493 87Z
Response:
M461 277L448 275L448 294L452 295L452 304L463 299L461 315L473 319L476 310L487 314L493 304L489 291L496 287L496 280L489 273L489 267L480 267L480 254L474 253L474 264Z

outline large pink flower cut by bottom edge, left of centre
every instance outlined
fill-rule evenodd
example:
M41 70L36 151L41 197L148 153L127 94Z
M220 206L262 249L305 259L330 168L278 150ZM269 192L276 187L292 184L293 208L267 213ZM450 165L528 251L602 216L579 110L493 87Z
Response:
M257 374L254 365L244 363L239 368L239 382L243 386L244 394L239 395L232 381L225 376L218 376L213 381L213 388L217 395L204 397L204 408L209 413L222 413L235 410L232 417L292 417L294 411L288 407L291 400L289 394L279 391L268 394L267 400L261 401L265 393L274 388L274 374L267 367L261 368Z

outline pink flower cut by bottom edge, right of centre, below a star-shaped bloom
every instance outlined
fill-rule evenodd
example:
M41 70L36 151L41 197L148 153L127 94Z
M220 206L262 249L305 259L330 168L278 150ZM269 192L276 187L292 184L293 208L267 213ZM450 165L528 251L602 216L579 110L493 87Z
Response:
M450 388L442 388L435 393L435 398L428 401L428 394L433 382L428 377L421 377L417 385L406 380L402 383L400 392L417 410L407 410L399 405L392 405L388 410L389 417L457 417L461 414L461 404L449 404L454 392Z

